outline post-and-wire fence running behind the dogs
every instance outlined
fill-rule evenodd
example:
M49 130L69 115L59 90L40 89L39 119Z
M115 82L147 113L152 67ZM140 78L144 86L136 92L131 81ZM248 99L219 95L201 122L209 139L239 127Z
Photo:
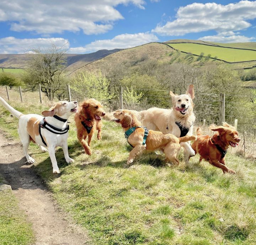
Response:
M172 99L169 96L169 91L161 89L139 89L131 91L128 88L122 88L122 92L120 92L119 86L108 87L109 98L104 98L104 100L98 97L97 93L92 95L89 88L80 88L77 90L69 87L69 85L61 86L55 92L52 100L45 93L46 90L48 92L50 90L51 92L51 88L48 86L41 86L41 90L38 86L29 85L19 87L2 86L0 87L0 96L7 101L20 101L26 104L40 104L41 101L41 103L49 106L53 101L58 100L69 100L71 98L71 100L82 102L88 97L95 97L108 107L109 111L119 108L140 111L151 107L172 107ZM197 126L201 126L203 133L211 135L212 131L208 130L208 126L213 123L220 125L221 118L224 118L224 121L231 125L235 125L235 121L237 121L237 130L241 137L241 143L237 151L246 153L247 156L256 157L256 103L250 101L250 98L247 96L240 95L225 95L224 111L221 109L222 103L220 94L195 93L195 129Z

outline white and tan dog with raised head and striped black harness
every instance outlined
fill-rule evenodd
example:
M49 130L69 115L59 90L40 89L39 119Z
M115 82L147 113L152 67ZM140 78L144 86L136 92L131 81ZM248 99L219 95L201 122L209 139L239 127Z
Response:
M31 141L37 144L42 152L49 151L54 174L60 173L55 158L55 147L62 147L67 163L74 162L74 160L70 158L68 154L68 127L66 121L70 115L77 111L77 101L59 101L54 103L49 111L42 112L42 114L45 116L44 121L47 122L48 125L53 126L53 128L47 125L43 128L41 127L40 131L42 137L39 134L39 124L40 121L43 120L43 116L38 114L24 115L12 108L2 97L0 97L0 102L8 111L11 112L11 114L19 119L18 133L21 139L21 143L24 147L24 154L28 163L35 162L35 160L28 154L28 148ZM55 133L47 130L47 128L51 131L54 131ZM58 132L60 134L58 134ZM48 150L44 146L47 146Z

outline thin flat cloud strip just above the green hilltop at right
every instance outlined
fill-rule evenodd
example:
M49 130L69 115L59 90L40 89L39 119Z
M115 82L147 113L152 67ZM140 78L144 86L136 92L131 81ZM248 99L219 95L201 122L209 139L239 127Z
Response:
M215 35L215 36L201 37L198 40L217 42L217 43L246 43L246 42L253 42L255 38L245 37L240 35L232 35L228 37L222 36L222 35Z

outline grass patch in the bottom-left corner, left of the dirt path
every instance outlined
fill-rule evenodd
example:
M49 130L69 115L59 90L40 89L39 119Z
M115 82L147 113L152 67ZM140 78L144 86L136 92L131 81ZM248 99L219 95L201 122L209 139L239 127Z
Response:
M0 191L0 244L28 245L34 241L31 224L11 190Z

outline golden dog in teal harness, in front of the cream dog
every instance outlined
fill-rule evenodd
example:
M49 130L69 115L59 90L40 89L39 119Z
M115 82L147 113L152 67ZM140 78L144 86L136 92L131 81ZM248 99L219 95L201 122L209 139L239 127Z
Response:
M114 117L117 118L115 121L121 124L124 131L127 131L131 127L141 126L135 114L130 110L117 110L114 112ZM159 131L149 130L146 144L142 145L144 131L143 128L136 128L136 130L130 134L128 142L134 149L130 152L127 164L132 163L135 156L144 150L154 151L158 149L165 153L165 159L167 161L179 164L177 153L181 147L180 143L196 139L195 136L178 138L173 134L163 134Z

